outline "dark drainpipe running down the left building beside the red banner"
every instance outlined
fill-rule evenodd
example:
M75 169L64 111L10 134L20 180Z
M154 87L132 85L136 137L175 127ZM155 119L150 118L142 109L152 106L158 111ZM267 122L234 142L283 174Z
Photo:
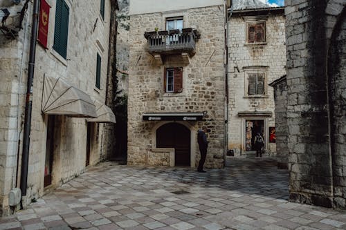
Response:
M37 27L39 23L38 15L39 15L39 0L34 0L33 23L31 27L29 66L28 66L28 84L26 87L23 153L21 156L21 184L20 184L21 196L26 195L26 187L28 185L28 161L29 161L29 147L30 147L31 111L33 108L33 78L34 78L34 68L35 68Z

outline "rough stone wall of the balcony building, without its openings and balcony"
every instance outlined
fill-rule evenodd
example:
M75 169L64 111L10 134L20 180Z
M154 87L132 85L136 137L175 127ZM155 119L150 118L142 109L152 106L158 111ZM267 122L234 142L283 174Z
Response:
M172 12L174 13L174 12ZM164 30L164 13L130 16L129 32L129 104L128 104L128 164L147 164L145 146L152 144L156 122L143 122L143 113L203 112L204 122L185 122L197 135L206 124L209 133L207 167L224 165L224 6L179 11L184 14L184 27L196 26L201 33L197 53L187 66L176 64L179 57L170 57L164 66L156 66L147 51L145 31ZM186 24L188 23L188 24ZM164 67L183 67L183 93L164 93ZM197 140L191 152L198 160ZM152 146L153 148L156 146ZM196 162L192 162L195 165Z

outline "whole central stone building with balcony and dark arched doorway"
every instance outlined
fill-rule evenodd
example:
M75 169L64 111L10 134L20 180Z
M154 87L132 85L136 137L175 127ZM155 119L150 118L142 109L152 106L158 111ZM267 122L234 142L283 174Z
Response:
M224 166L224 0L131 0L127 163Z

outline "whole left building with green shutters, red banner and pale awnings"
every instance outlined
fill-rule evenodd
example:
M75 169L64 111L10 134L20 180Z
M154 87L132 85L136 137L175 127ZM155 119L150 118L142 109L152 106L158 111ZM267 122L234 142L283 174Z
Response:
M0 1L0 215L107 157L116 8L116 0Z

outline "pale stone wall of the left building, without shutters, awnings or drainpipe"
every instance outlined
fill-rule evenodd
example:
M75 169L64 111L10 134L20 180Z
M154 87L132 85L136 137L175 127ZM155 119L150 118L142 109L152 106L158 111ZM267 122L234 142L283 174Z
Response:
M103 103L107 88L107 63L109 52L109 26L111 7L114 2L105 1L104 19L100 15L100 1L70 1L69 36L67 57L64 59L53 49L55 27L55 3L47 0L51 6L48 24L47 49L36 46L35 73L33 82L33 111L30 131L30 149L28 162L28 188L23 198L24 206L31 199L44 194L86 169L86 133L85 118L57 115L55 120L55 142L53 153L53 173L51 186L44 188L44 170L46 159L46 140L48 115L41 112L42 90L45 75L62 77L69 84L79 88L96 101ZM112 6L111 6L112 4ZM10 15L6 23L11 24L12 17L24 6L24 1L13 5L12 1L0 1L1 8L8 8ZM8 214L8 193L19 186L21 169L21 151L23 141L23 121L28 76L28 48L33 15L33 3L29 1L28 10L22 22L23 29L16 39L6 39L0 34L0 215ZM96 53L101 57L100 89L95 88ZM104 158L102 149L103 124L91 124L93 135L90 142L90 164L96 164ZM19 157L19 164L17 164ZM18 174L16 173L19 168ZM16 175L17 174L17 175Z

